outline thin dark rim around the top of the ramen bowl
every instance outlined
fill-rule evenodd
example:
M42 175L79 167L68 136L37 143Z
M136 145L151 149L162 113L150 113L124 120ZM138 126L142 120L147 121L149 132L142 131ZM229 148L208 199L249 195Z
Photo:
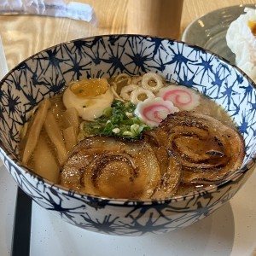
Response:
M186 43L182 40L178 40L178 39L173 39L173 38L162 38L162 37L158 37L158 36L153 36L153 35L143 35L143 34L132 34L132 33L120 33L120 34L103 34L103 35L96 35L96 36L90 36L90 37L84 37L84 38L76 38L73 40L69 40L66 42L61 42L59 44L55 44L52 46L49 46L48 48L42 49L40 51L38 51L37 53L30 55L29 57L27 57L25 60L20 61L20 63L18 63L15 67L13 67L12 69L9 70L8 73L5 74L5 76L3 77L3 79L0 80L0 86L3 85L5 83L5 81L7 80L7 78L9 77L9 75L13 72L15 72L15 70L17 70L20 66L24 65L26 63L26 61L32 60L33 58L35 58L36 56L40 55L42 52L45 52L49 49L55 49L58 46L61 45L67 45L67 44L72 44L74 42L79 42L79 41L84 41L84 40L90 40L93 38L110 38L110 37L139 37L139 38L158 38L160 40L166 40L166 41L172 41L172 42L177 42L177 44L183 44L195 49L199 49L201 51L204 51L214 57L217 57L218 60L220 61L224 61L224 63L230 65L232 68L235 68L238 73L241 73L241 75L247 79L247 81L249 82L249 84L251 84L254 88L254 90L256 90L256 84L253 82L253 79L250 79L246 73L244 73L241 68L237 67L235 64L231 63L230 61L228 61L227 59L225 59L224 57L212 52L209 49L204 49L201 46L195 45L195 44L189 44ZM3 153L1 152L3 151ZM10 153L9 150L7 150L4 146L3 143L0 142L0 154L3 154L3 157L6 157L9 161L15 162L15 165L18 166L20 168L21 172L24 172L25 174L29 174L30 176L32 176L33 179L37 179L40 182L44 182L44 184L47 184L49 186L49 188L56 188L58 189L61 194L68 194L74 198L79 198L79 199L83 199L83 200L88 200L91 201L92 199L96 199L97 201L108 201L108 205L124 205L125 203L125 207L126 206L134 206L134 203L137 202L143 202L143 205L159 205L159 204L165 204L165 203L169 203L171 201L184 201L184 200L189 200L192 198L195 198L197 196L200 195L205 195L205 194L209 194L212 192L217 191L219 188L226 186L227 184L231 183L234 179L238 179L240 177L242 177L248 170L252 169L253 166L256 165L256 154L253 155L252 160L250 160L247 164L247 168L239 168L238 170L236 170L236 172L233 172L227 180L219 182L219 183L214 183L210 186L207 186L203 189L199 189L193 192L189 192L188 194L184 194L184 195L174 195L171 197L166 197L166 198L160 198L160 199L143 199L143 200L139 200L139 199L125 199L125 198L108 198L108 197L104 197L104 196L98 196L98 195L90 195L90 194L86 194L83 192L79 192L73 189L67 189L64 186L62 186L61 184L57 184L57 183L52 183L50 182L48 179L38 175L37 173L33 172L30 168L27 168L26 166L24 166L21 161L18 159L18 157L13 154ZM3 161L3 164L5 161ZM8 169L8 168L7 168ZM20 186L20 184L18 184ZM22 187L20 187L22 189ZM26 191L25 191L26 192Z

